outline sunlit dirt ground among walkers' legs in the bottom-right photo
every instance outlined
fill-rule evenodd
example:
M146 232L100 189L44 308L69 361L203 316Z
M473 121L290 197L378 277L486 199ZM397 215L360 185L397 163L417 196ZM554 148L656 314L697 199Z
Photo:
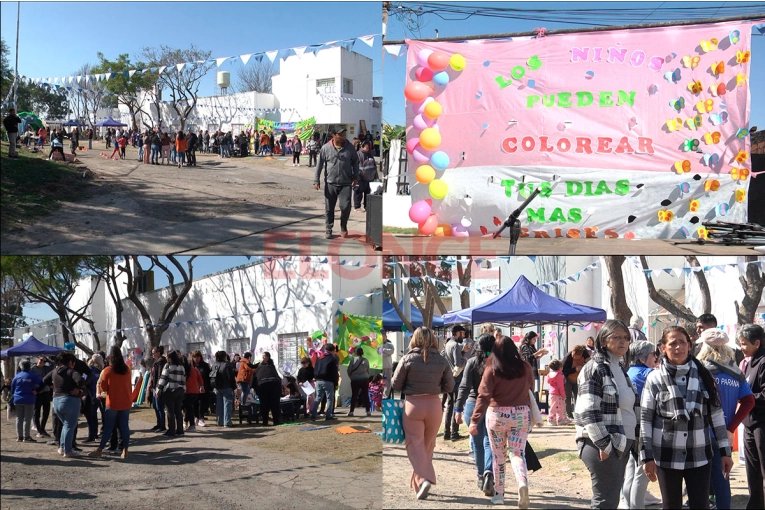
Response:
M461 434L467 434L465 426ZM574 427L535 428L529 436L542 469L529 474L530 508L589 508L592 490L590 474L577 457ZM734 454L734 458L735 458ZM480 508L491 505L476 486L475 465L470 457L467 439L444 441L439 436L434 452L438 483L427 500L417 501L409 489L412 467L403 445L383 443L383 508ZM516 508L518 495L515 478L508 474L505 505ZM735 462L731 473L733 508L746 508L748 500L744 466ZM658 483L648 486L649 492L661 497ZM660 508L651 506L648 508Z

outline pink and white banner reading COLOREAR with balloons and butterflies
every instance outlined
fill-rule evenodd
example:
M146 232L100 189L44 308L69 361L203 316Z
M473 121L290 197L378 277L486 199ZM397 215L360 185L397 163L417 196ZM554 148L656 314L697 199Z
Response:
M407 41L410 218L481 235L540 187L524 235L703 237L702 221L745 221L752 24Z

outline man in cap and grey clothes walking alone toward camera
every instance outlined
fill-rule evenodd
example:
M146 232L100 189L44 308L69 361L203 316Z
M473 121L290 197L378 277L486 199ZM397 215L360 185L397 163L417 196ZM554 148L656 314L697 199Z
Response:
M359 156L353 145L345 138L345 128L338 126L332 130L332 139L319 151L314 189L319 189L321 173L326 167L324 177L324 205L326 232L324 237L332 238L335 226L335 206L340 201L340 233L348 236L348 218L351 215L351 189L359 178Z

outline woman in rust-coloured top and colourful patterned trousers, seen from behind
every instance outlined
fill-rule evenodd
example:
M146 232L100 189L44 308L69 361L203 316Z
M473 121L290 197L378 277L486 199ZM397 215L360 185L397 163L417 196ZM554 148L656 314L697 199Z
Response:
M504 336L496 341L491 354L478 387L468 430L471 436L477 435L478 424L486 419L494 471L495 494L491 502L504 504L505 464L509 446L510 465L518 483L518 508L528 508L525 451L526 438L531 430L529 390L534 387L534 374L510 337Z

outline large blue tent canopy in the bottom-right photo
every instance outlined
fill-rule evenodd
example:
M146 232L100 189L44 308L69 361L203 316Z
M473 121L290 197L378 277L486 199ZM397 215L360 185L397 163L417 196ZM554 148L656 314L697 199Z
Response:
M522 275L512 288L486 303L444 315L446 324L460 322L587 323L605 320L605 310L578 305L546 294Z

